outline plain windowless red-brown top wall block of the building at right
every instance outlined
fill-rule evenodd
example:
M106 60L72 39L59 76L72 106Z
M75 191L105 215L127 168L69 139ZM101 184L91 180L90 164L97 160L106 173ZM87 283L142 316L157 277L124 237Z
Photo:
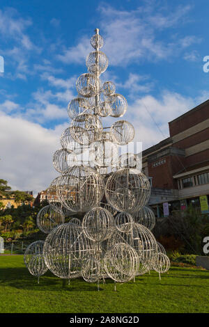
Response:
M192 111L191 113L187 113L187 115L183 115L183 117L178 118L177 120L173 120L173 122L169 122L169 131L170 136L176 135L181 131L185 131L199 122L203 122L209 118L209 102L206 104L200 105L200 108Z

